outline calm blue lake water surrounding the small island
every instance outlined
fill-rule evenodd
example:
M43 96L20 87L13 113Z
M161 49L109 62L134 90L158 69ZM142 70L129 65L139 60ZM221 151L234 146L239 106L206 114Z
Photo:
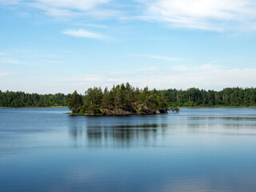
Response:
M0 191L256 191L256 109L0 109Z

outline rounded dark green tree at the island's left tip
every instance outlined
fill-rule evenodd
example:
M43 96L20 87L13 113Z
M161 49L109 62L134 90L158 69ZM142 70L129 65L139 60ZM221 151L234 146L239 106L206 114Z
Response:
M72 114L79 113L83 106L82 96L76 90L70 95L67 102Z

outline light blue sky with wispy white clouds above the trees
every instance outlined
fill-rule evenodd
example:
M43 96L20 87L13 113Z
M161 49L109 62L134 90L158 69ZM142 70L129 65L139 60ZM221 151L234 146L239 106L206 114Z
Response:
M0 0L0 90L256 85L254 0Z

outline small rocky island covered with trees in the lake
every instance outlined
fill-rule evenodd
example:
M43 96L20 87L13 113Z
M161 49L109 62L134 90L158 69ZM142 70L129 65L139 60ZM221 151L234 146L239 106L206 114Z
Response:
M178 108L168 106L164 92L130 86L127 82L112 89L107 87L89 88L85 96L75 90L68 98L72 114L85 115L125 115L125 114L166 114L168 110L178 112Z

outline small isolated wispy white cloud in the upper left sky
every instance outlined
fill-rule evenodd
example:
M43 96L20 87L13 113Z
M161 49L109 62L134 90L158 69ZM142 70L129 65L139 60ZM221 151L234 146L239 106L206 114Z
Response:
M88 30L64 30L62 31L62 34L68 34L76 38L98 38L98 39L106 38L106 36L102 34L96 34Z

